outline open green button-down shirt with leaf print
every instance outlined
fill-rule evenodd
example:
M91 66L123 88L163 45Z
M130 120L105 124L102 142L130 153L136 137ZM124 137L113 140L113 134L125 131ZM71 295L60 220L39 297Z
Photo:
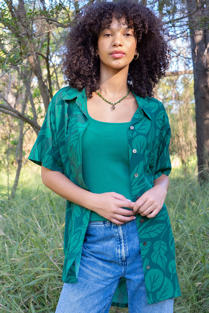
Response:
M130 121L127 136L131 191L133 201L136 201L137 197L153 187L153 181L162 173L169 175L171 161L168 146L171 132L161 102L150 97L144 99L134 96L138 109ZM83 181L81 162L81 139L88 125L86 102L84 89L79 92L67 86L59 90L49 104L29 159L64 173L76 185L88 190ZM77 282L90 213L89 209L67 201L62 275L66 283ZM175 244L166 205L154 218L137 214L136 224L148 303L181 295L176 275ZM125 307L127 302L125 279L121 279L112 305Z

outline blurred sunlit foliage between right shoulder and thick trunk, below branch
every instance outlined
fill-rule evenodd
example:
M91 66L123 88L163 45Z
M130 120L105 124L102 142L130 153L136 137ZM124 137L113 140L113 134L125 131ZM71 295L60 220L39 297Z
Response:
M193 76L168 76L158 90L171 125L170 153L180 157L186 172L196 154L195 102Z

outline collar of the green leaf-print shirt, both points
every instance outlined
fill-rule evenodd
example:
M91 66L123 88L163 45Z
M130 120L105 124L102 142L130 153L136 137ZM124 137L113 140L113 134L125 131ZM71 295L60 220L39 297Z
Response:
M139 110L137 110L137 111L138 111L138 114L140 115L140 117L141 117L141 115L143 115L143 112L144 112L147 115L147 117L151 120L150 106L149 106L149 103L147 101L147 97L142 98L142 97L136 95L133 91L132 91L132 93L135 96L135 99L138 103ZM66 90L66 93L62 99L63 100L72 100L74 98L77 98L76 99L77 105L80 108L82 108L82 111L85 111L85 101L86 101L85 88L82 89L81 91L78 91L77 89L69 86L69 89Z

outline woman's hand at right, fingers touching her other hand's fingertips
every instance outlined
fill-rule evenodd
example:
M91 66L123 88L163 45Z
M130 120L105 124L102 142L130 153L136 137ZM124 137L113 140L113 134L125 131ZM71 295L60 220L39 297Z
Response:
M166 194L166 188L160 185L152 187L135 202L133 211L148 218L155 217L164 204Z

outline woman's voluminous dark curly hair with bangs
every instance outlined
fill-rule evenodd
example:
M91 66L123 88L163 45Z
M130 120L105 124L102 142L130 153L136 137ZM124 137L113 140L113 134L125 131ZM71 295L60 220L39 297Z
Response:
M135 32L139 57L129 65L128 86L136 95L152 97L153 88L169 67L168 32L149 8L132 0L95 1L75 16L64 48L65 83L79 91L85 87L89 98L99 89L96 46L99 34L111 24L113 16L118 21L125 18Z

